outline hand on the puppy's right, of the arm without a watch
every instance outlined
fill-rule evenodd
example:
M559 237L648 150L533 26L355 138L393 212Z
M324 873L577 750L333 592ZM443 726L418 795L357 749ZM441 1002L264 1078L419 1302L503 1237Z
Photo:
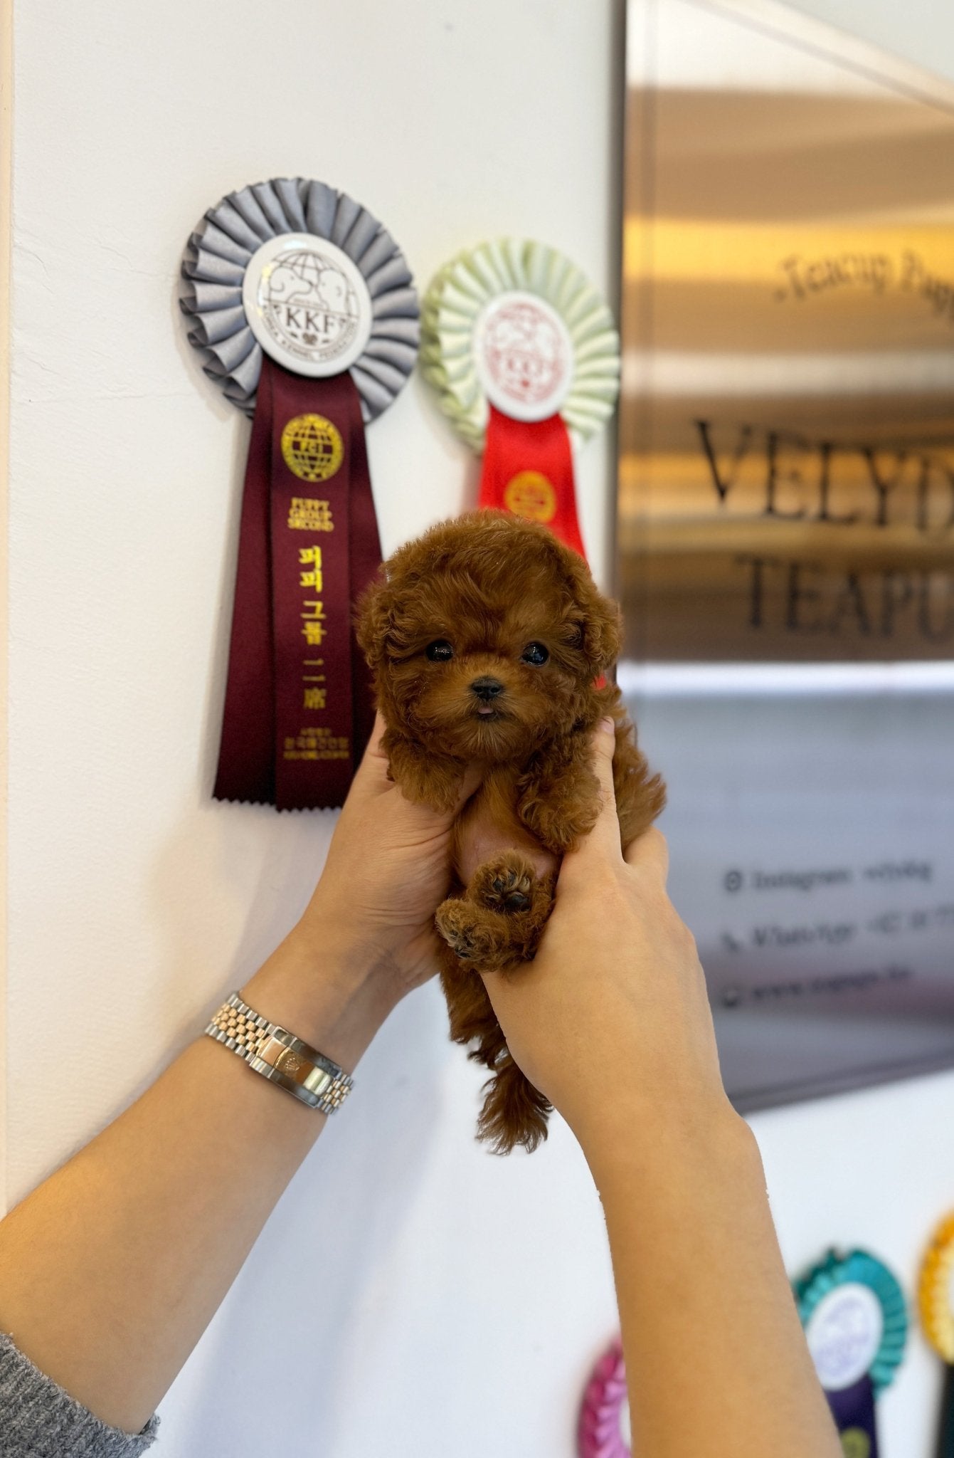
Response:
M484 978L513 1057L591 1163L663 1114L731 1114L696 945L666 894L666 840L653 827L620 851L604 726L593 755L602 811L564 856L536 958Z

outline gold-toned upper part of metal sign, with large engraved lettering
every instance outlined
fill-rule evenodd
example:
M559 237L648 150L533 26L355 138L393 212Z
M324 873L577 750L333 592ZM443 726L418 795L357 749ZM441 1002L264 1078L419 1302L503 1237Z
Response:
M950 658L954 95L744 9L631 12L631 652Z

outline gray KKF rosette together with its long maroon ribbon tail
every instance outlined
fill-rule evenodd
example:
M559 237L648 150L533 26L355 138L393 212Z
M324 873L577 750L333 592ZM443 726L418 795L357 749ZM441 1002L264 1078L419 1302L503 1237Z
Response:
M213 793L336 806L373 723L351 623L382 560L364 423L414 367L411 271L345 192L272 178L205 213L182 276L205 373L253 417Z

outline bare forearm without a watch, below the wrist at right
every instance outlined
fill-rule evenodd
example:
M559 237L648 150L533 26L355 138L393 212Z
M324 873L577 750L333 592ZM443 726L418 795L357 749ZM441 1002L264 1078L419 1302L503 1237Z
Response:
M587 1158L639 1458L839 1458L746 1124L728 1105L661 1123L645 1110Z

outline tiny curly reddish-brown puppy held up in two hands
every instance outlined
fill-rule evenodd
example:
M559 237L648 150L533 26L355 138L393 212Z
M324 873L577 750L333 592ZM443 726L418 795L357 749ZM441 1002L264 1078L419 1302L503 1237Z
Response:
M551 1104L507 1051L479 972L529 961L564 851L591 830L600 790L591 732L616 722L613 781L623 846L663 809L620 693L619 608L548 528L481 510L408 542L358 605L390 777L450 809L469 761L479 789L453 831L454 885L437 908L450 1037L491 1070L478 1137L536 1149ZM580 975L586 975L581 948Z

